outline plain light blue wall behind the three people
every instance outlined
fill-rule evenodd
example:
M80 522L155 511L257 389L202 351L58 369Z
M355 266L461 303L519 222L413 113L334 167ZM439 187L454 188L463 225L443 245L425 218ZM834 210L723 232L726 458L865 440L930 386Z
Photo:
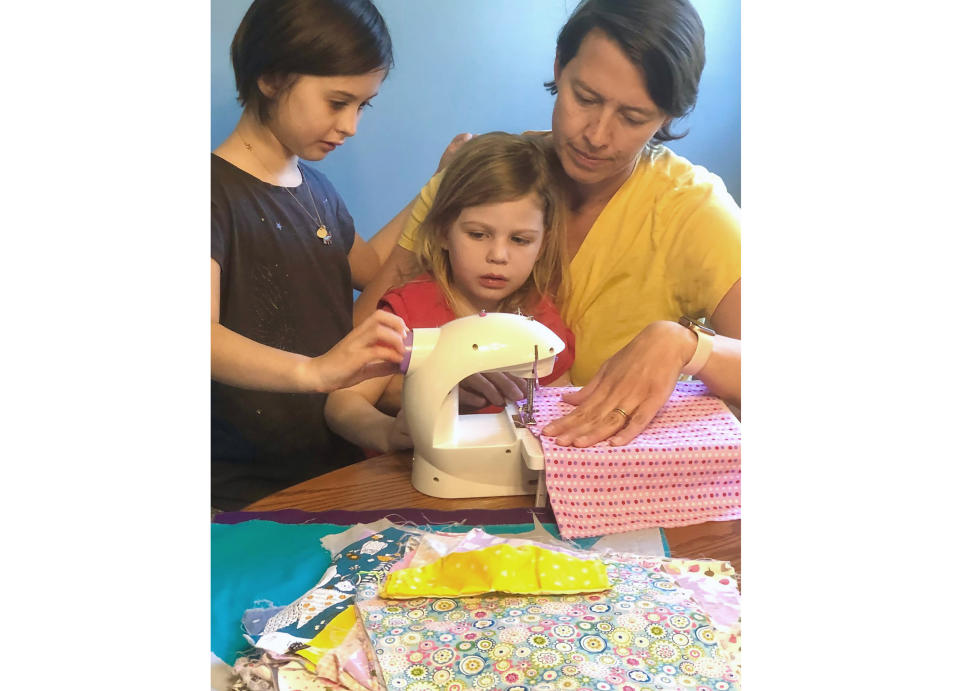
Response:
M458 132L549 129L556 37L576 0L375 0L395 67L357 135L316 164L369 238L413 198ZM230 41L248 0L212 0L211 148L236 124ZM697 108L674 151L740 201L740 3L694 0L707 35Z

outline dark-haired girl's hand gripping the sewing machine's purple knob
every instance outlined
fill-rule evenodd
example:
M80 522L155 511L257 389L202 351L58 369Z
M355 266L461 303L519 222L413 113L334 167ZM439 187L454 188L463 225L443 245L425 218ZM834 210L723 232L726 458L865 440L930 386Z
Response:
M307 360L304 376L313 390L329 393L371 377L396 374L407 331L403 319L377 310L333 348Z

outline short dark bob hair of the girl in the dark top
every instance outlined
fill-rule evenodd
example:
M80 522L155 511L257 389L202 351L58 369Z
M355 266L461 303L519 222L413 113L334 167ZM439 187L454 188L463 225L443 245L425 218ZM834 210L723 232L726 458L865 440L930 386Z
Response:
M393 44L370 0L254 0L230 45L237 100L262 122L271 99L257 80L293 85L296 75L318 77L389 71Z

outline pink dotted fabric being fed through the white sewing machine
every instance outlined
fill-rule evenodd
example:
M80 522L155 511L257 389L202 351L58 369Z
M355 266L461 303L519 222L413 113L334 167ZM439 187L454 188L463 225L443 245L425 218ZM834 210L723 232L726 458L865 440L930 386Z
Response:
M540 428L573 406L572 387L537 392L547 493L565 538L740 518L740 422L702 382L678 382L650 425L626 446L558 446Z

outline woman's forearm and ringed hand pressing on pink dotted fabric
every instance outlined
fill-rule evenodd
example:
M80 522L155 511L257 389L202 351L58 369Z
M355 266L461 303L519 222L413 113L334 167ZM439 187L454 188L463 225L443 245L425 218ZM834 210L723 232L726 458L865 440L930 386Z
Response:
M697 378L711 393L740 405L740 281L710 317L717 329L713 350ZM732 337L736 336L736 337ZM680 370L697 348L697 336L675 322L657 321L607 360L586 386L564 395L577 406L543 433L562 446L592 446L609 439L627 444L657 414L676 388ZM617 408L627 414L626 424Z

